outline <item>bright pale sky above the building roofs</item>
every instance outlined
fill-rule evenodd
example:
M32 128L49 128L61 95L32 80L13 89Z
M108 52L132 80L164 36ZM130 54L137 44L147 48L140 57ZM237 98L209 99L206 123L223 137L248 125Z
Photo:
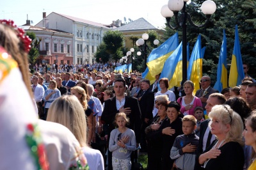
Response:
M42 12L62 13L102 24L111 24L112 20L140 19L143 17L156 27L164 26L165 19L160 11L168 0L3 0L0 6L0 19L12 19L21 26L28 19L37 24L42 20Z

